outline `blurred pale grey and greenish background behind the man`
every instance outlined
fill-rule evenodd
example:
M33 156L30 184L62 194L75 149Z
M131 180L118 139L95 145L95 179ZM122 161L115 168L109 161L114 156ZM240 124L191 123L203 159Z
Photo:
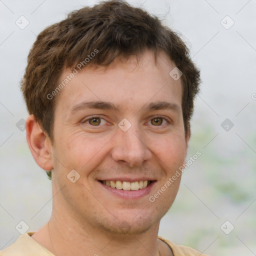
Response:
M209 255L256 254L256 1L128 0L179 31L201 69L187 159L159 235ZM0 0L0 250L51 213L51 181L34 162L19 89L46 26L93 0Z

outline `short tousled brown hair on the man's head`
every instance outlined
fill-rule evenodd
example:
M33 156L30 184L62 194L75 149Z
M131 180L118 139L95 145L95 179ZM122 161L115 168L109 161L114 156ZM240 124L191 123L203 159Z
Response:
M95 49L98 53L85 61ZM77 63L108 66L116 57L138 56L146 49L155 56L163 50L182 72L182 113L187 133L193 99L199 90L199 70L178 33L164 26L156 16L122 0L103 1L72 11L38 34L21 80L29 114L34 114L53 139L56 97L49 99L49 94L55 91L64 68L73 68Z

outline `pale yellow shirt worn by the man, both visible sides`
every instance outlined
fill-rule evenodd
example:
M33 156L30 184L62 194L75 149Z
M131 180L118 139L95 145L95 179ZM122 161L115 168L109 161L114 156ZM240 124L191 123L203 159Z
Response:
M20 235L13 244L0 251L0 256L54 256L54 254L35 241L31 237L32 234L34 232ZM190 247L177 245L161 236L158 236L158 238L169 245L174 256L207 256Z

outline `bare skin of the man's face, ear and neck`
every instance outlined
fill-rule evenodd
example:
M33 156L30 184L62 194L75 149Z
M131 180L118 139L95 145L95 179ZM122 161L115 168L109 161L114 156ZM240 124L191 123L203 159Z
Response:
M35 121L27 118L27 141L37 164L52 171L52 214L32 235L58 255L172 255L157 238L159 222L174 201L180 177L154 202L153 195L184 163L189 133L184 133L181 79L169 71L174 63L159 52L157 62L146 51L115 59L107 69L88 66L57 95L52 141ZM62 81L70 73L65 69ZM107 101L119 109L80 107L82 101ZM149 110L149 103L166 101L176 108ZM179 108L179 109L178 109ZM98 125L93 125L92 117ZM154 121L154 117L162 117ZM126 118L127 131L118 127ZM100 121L100 123L99 123ZM162 121L162 123L161 123ZM91 124L92 123L92 124ZM80 178L72 183L67 174ZM149 194L120 198L98 179L150 177ZM125 225L127 229L121 228Z

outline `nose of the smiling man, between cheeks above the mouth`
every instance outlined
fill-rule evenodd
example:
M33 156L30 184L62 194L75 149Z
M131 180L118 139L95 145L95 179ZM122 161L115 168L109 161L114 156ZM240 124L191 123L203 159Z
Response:
M139 131L135 125L131 125L126 131L118 128L114 138L111 156L116 162L135 167L141 166L144 161L152 157L142 131Z

